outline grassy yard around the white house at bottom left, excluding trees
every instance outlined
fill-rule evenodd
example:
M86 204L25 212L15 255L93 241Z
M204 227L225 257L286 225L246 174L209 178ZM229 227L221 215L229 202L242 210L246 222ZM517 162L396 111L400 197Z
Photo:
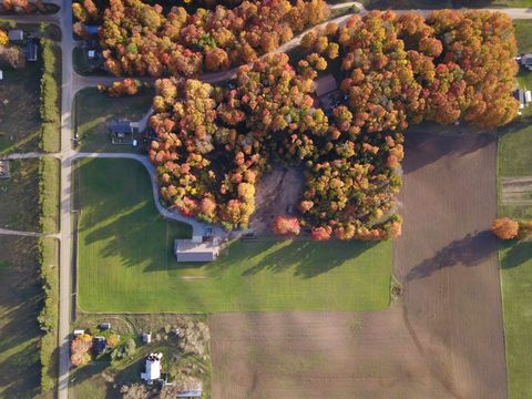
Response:
M198 347L206 348L204 357L197 354L183 354L180 344L183 339L176 338L171 328L175 326L192 326L191 330L197 331L197 326L206 328L204 316L178 315L79 315L73 328L96 331L100 323L110 323L112 332L121 340L135 339L136 349L131 359L112 360L109 352L98 357L89 365L75 369L71 375L69 397L74 399L108 399L122 398L120 388L123 385L143 383L145 357L151 352L163 352L162 372L170 372L171 378L178 382L184 370L191 372L202 381L204 398L211 397L211 356L207 340ZM194 321L195 325L192 325ZM186 328L182 328L184 331ZM141 341L142 332L152 331L153 340L146 345ZM101 332L99 332L101 334ZM158 338L157 338L158 337ZM193 370L191 370L193 368Z

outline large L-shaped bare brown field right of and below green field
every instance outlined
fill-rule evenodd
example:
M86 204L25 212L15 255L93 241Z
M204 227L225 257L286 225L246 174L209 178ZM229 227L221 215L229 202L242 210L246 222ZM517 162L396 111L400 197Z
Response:
M494 137L407 135L401 300L209 317L213 398L505 398Z

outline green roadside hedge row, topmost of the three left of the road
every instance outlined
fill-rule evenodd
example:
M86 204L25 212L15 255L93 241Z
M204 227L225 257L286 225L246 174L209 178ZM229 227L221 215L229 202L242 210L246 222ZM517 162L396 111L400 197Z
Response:
M42 38L43 72L41 78L41 149L44 152L58 152L60 150L60 104L59 84L60 51L57 44Z

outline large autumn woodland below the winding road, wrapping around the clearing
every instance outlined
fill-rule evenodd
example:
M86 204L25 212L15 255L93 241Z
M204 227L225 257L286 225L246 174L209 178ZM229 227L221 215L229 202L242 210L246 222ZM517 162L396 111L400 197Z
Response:
M156 83L150 158L161 193L182 214L245 228L255 184L273 164L305 171L298 219L315 239L400 234L403 130L423 120L498 126L516 113L513 28L501 13L438 11L427 20L372 12L304 40L290 66L269 54L238 69L226 88L191 79ZM313 99L327 63L342 74L345 104L328 115ZM289 228L285 228L288 226Z

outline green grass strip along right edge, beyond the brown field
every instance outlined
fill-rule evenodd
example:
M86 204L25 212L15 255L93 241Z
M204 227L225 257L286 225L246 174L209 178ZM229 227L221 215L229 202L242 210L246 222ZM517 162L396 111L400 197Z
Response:
M499 139L499 178L532 176L530 120L508 129ZM499 204L500 216L532 218L532 206ZM507 344L509 397L532 397L532 242L502 243L499 252Z

